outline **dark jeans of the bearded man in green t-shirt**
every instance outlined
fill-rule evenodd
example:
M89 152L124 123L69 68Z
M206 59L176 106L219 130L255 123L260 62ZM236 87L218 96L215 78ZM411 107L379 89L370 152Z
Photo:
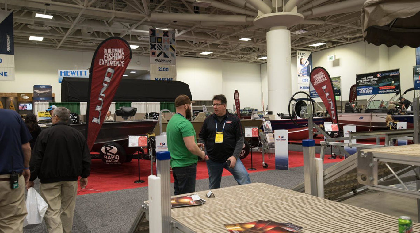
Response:
M195 192L195 175L197 173L197 164L186 167L172 168L172 175L175 195L188 194Z

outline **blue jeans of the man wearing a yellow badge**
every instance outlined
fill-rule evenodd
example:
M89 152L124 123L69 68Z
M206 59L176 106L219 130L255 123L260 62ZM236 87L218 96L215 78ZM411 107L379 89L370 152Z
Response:
M234 175L234 178L239 185L251 183L251 179L249 179L247 169L245 169L244 164L241 162L240 159L236 160L234 168L229 168L229 166L225 165L224 163L214 162L212 160L207 160L206 163L207 170L209 172L210 189L220 188L220 181L222 180L223 168L226 168L226 170L228 170L232 175Z

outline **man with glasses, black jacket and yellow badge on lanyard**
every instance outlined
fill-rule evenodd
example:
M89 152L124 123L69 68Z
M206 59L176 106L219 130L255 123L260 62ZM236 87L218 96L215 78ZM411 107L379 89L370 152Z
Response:
M209 158L206 163L210 189L220 188L223 168L234 175L239 185L251 183L247 170L239 160L244 146L241 121L226 111L223 94L213 97L213 109L214 113L204 120L199 133L199 142L205 145Z

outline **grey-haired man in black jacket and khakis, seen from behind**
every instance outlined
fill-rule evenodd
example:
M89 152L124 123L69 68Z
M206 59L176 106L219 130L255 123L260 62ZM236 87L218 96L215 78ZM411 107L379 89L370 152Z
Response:
M71 233L76 203L77 179L80 187L87 185L90 153L86 139L68 125L70 111L54 110L53 125L39 134L32 151L31 178L27 188L39 177L41 196L48 204L45 224L49 233Z

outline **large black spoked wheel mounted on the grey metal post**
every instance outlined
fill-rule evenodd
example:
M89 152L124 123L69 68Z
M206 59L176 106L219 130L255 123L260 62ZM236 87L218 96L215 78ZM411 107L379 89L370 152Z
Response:
M298 94L304 95L303 98L295 98ZM304 118L303 115L301 115L302 109L304 109L306 106L308 106L308 102L312 103L312 117L315 115L315 105L313 105L314 100L310 97L310 95L306 92L296 92L292 95L292 97L289 100L289 117L291 121L300 127L306 127L308 126L308 122L306 124L297 123L297 117Z

